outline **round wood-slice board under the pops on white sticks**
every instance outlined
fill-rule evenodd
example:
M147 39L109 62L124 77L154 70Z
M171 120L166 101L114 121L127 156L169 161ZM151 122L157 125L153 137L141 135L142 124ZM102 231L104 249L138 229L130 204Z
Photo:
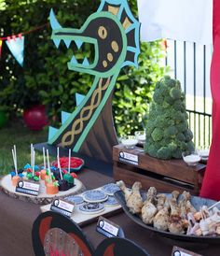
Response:
M86 190L83 183L80 180L78 180L77 178L75 178L75 184L76 185L68 191L59 192L57 194L47 194L45 181L40 180L39 194L37 196L34 196L31 194L15 192L15 187L12 186L12 184L11 184L11 176L10 175L3 177L0 181L1 190L3 192L7 193L9 196L14 197L19 200L22 200L22 201L32 202L32 203L38 204L38 205L47 205L47 204L51 203L55 197L63 198L65 196L68 196L71 194L76 194L79 192L84 192Z

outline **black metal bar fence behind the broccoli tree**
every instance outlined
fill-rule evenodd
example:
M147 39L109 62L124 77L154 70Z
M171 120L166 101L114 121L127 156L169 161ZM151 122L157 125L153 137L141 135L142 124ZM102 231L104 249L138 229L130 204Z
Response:
M196 147L208 147L212 139L212 98L210 64L212 46L168 40L165 64L186 93L189 127Z

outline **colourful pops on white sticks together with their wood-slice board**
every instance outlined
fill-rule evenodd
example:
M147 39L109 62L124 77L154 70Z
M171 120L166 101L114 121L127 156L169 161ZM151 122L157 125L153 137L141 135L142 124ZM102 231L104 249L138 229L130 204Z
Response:
M47 152L47 154L46 154ZM34 201L36 204L42 202L51 202L53 195L67 196L71 192L76 193L78 188L82 189L83 185L80 181L76 181L76 173L71 172L71 153L69 154L68 168L62 168L60 163L59 148L57 148L57 167L51 166L48 157L48 149L43 148L44 164L35 164L34 146L31 144L31 162L25 164L21 169L18 169L16 146L12 149L12 157L14 168L3 178L1 185L5 192L11 196L17 196L25 200ZM80 161L82 164L83 161ZM78 162L79 163L79 162ZM19 181L20 188L18 188ZM35 186L36 185L36 186ZM35 186L35 187L34 187ZM75 187L78 187L74 189ZM79 190L80 190L79 189ZM35 191L34 191L35 190ZM31 197L35 197L30 199Z

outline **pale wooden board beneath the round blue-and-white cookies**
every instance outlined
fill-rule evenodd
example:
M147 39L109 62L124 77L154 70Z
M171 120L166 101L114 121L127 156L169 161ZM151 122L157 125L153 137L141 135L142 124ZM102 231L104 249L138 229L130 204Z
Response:
M101 188L98 188L101 189ZM96 189L96 190L98 190ZM82 195L82 194L77 194L77 195ZM47 206L41 206L41 211L42 212L46 212L48 210L50 210L50 206L51 204L47 205ZM79 205L80 206L80 205ZM98 212L95 214L85 214L82 213L78 207L75 205L74 208L74 212L71 216L71 219L74 220L79 226L84 226L86 224L89 224L91 222L95 222L99 219L100 216L113 216L115 214L117 214L117 212L122 211L121 206L118 204L117 206L104 206L104 210L102 212Z

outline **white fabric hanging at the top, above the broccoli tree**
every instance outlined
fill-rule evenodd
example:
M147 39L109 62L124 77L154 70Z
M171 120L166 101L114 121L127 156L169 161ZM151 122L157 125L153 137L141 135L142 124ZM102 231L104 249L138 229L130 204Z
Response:
M219 0L220 1L220 0ZM213 0L137 0L142 41L212 44Z

